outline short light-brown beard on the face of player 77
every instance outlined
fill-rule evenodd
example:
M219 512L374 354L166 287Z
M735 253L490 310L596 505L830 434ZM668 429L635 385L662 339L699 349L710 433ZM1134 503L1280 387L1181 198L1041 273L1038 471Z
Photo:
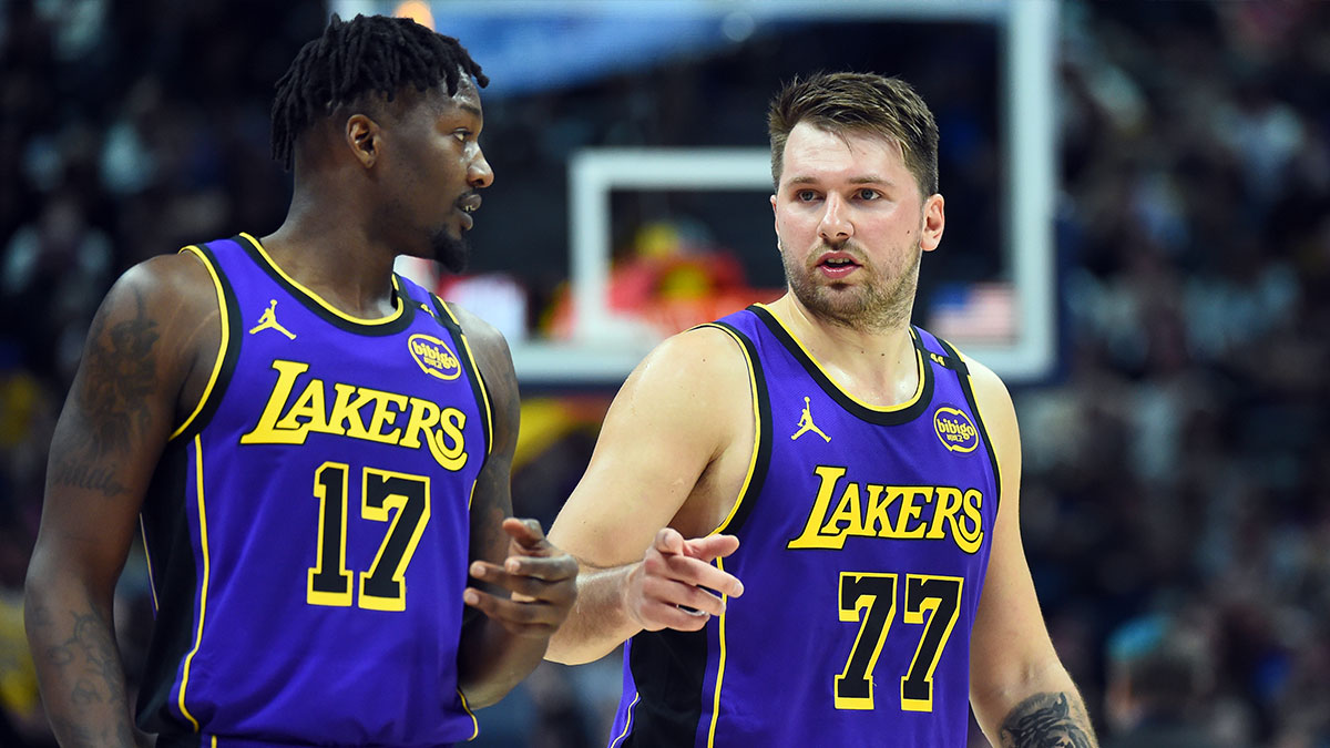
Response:
M814 257L817 254L821 252ZM870 280L857 285L838 281L819 283L814 277L817 268L798 265L789 252L781 253L781 264L786 283L805 309L843 327L876 331L899 329L910 322L922 257L923 248L916 241L914 253L895 277L880 274L866 260L859 272L868 274Z

